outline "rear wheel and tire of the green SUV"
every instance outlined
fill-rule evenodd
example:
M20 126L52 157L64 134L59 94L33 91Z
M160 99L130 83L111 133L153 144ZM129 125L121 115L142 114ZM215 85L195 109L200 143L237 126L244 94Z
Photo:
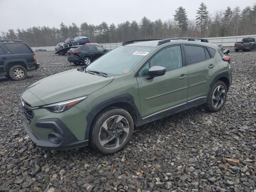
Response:
M226 84L223 81L217 81L210 90L210 93L207 98L207 103L204 104L205 110L209 112L219 111L224 106L226 98L227 98Z

